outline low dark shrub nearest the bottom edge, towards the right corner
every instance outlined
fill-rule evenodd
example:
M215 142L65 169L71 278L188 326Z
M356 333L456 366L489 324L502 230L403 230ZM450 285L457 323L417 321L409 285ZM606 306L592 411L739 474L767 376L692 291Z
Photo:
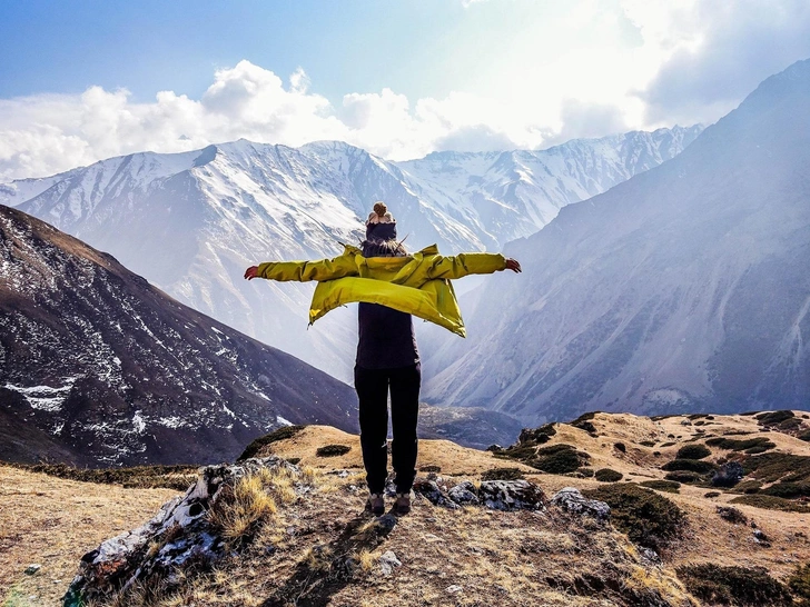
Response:
M772 607L791 605L788 588L762 567L722 567L713 563L675 568L686 589L707 604Z

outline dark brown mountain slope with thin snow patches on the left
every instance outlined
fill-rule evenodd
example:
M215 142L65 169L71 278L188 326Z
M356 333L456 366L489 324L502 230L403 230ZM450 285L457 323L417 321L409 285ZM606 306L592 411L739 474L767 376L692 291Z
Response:
M356 418L350 387L0 206L0 459L215 462Z

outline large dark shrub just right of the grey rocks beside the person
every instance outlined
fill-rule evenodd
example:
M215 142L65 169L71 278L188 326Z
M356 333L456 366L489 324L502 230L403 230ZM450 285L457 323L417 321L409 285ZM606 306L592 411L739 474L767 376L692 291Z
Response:
M686 516L672 500L638 485L605 485L583 491L611 507L611 520L636 544L661 550L680 537Z

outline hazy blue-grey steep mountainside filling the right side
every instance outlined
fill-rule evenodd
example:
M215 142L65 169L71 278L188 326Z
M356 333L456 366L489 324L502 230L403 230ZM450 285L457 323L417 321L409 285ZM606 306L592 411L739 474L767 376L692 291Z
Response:
M540 422L810 398L810 60L680 156L507 247L428 401Z

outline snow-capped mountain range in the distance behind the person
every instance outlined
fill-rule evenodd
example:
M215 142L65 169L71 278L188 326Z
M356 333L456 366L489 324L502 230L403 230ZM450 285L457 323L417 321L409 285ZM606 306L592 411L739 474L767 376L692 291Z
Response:
M0 202L110 251L180 301L349 379L354 314L337 310L307 332L313 287L247 283L248 265L337 255L340 242L362 238L376 200L388 203L412 249L498 249L534 233L565 205L672 158L700 130L399 163L339 142L292 149L240 140L14 181L0 186Z

